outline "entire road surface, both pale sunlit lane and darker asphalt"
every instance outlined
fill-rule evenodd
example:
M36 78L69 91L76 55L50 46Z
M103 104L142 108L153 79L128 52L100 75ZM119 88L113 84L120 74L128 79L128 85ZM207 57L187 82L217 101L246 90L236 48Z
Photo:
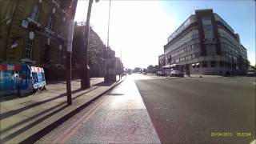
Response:
M254 82L132 74L36 143L250 143Z

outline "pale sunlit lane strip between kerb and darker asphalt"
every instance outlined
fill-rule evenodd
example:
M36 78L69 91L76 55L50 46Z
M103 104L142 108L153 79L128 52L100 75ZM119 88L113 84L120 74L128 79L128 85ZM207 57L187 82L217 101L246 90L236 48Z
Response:
M50 142L160 143L133 76L36 143Z

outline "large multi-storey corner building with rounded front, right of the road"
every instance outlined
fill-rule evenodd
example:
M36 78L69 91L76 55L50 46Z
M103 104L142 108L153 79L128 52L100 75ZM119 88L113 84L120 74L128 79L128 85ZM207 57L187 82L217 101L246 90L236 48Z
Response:
M238 74L242 71L238 58L247 59L239 35L211 9L195 10L167 41L166 65L181 65L183 72L222 75L233 70Z

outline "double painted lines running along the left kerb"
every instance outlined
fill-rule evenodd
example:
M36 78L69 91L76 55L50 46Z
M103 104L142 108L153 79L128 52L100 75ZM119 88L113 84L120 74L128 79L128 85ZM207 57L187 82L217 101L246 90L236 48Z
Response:
M72 126L70 126L69 129L65 130L62 134L58 136L58 138L55 139L54 143L64 143L66 142L73 134L80 128L82 125L79 125L82 123L85 123L97 110L100 106L102 106L103 102L106 102L106 99L109 98L106 96L106 98L103 98L101 102L98 102L92 109L90 109L82 118L79 118L78 121L76 121Z

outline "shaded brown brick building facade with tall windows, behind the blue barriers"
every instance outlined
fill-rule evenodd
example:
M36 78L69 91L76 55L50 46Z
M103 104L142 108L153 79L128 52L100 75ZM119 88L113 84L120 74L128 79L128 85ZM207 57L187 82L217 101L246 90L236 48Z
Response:
M0 62L43 67L46 78L64 76L58 70L65 64L70 1L2 1Z

